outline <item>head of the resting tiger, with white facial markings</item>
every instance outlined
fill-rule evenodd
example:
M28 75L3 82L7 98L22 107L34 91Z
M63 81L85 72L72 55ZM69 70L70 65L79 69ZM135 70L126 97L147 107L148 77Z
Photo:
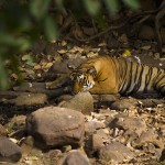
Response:
M70 75L73 80L73 90L75 94L79 91L88 91L95 86L96 69L91 67L86 72L74 72Z

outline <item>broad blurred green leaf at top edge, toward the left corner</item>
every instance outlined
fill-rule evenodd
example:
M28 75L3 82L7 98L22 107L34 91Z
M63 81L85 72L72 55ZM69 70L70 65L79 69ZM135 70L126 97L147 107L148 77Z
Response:
M50 0L31 0L30 11L36 20L41 20L47 12Z

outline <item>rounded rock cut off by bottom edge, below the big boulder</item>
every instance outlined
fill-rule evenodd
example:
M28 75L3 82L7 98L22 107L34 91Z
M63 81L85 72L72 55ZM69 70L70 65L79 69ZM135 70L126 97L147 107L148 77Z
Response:
M79 151L73 150L64 158L63 165L90 165L87 157Z

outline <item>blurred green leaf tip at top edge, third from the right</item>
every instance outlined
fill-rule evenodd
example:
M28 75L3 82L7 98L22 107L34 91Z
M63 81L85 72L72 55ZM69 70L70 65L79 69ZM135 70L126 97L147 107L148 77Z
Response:
M90 15L97 14L100 2L98 0L84 0L85 7Z

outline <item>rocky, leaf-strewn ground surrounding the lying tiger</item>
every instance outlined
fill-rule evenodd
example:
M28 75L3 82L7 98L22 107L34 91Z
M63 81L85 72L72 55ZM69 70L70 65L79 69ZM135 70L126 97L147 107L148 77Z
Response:
M78 58L98 55L122 56L165 68L154 42L129 45L125 35L119 38L120 48L109 48L103 42L92 46L41 42L20 56L20 70L26 82L15 84L18 77L10 70L13 85L0 92L2 164L165 164L164 98L89 92L73 96L64 89L45 88L45 81L68 73L67 64L76 66Z

